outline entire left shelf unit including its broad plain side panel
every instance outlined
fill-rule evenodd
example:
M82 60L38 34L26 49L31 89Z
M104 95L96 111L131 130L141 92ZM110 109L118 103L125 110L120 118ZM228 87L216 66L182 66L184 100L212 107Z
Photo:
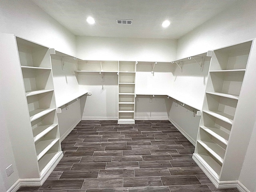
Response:
M4 100L9 102L6 114L12 114L7 126L12 133L17 169L21 183L24 179L28 184L30 179L31 185L41 185L63 156L50 49L12 34L3 34L1 38L13 54L2 56L5 65L12 69L4 82L9 84L5 93L9 96Z

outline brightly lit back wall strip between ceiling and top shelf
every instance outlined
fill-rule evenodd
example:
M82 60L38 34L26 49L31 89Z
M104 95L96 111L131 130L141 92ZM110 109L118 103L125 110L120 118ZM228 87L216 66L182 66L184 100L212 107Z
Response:
M176 46L170 39L76 37L77 56L86 60L170 61Z

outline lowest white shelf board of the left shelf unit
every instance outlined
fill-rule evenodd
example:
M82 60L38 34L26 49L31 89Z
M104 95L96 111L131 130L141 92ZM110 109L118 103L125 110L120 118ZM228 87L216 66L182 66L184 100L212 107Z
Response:
M44 162L41 162L39 165L40 168L40 176L42 176L48 169L49 166L51 164L54 164L54 162L56 162L56 160L58 160L58 158L63 156L63 152L62 151L58 151L58 152L52 152L52 153L48 153L44 155ZM46 161L47 160L47 161ZM42 159L41 159L42 161ZM43 164L44 166L42 167Z

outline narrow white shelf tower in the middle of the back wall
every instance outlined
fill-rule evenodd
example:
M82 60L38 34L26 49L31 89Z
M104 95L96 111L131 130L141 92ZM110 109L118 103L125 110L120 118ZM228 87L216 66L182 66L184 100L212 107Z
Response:
M119 61L118 124L134 124L136 62Z

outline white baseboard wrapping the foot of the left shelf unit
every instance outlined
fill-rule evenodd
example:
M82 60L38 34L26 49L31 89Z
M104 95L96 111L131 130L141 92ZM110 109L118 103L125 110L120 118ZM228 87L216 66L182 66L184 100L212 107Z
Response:
M42 186L48 176L52 173L54 168L57 166L57 164L60 162L60 160L63 157L63 153L61 152L55 160L53 160L53 163L49 166L49 168L46 170L44 175L41 176L41 178L38 179L19 179L15 182L15 184L7 190L7 192L16 192L20 187L22 186Z

